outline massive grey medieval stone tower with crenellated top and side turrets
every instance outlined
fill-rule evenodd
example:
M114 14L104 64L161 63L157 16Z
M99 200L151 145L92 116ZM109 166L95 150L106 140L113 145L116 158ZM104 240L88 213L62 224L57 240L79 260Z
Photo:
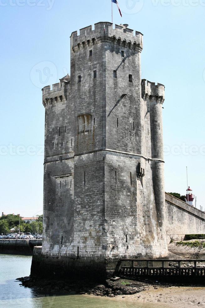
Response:
M142 49L128 25L73 32L71 76L42 90L44 267L167 257L164 85L141 80Z

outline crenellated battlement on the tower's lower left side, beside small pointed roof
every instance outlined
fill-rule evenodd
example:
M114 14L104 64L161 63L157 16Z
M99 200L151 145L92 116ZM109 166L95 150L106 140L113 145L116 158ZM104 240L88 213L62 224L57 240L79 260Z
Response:
M67 84L69 83L70 75L67 74L65 77L60 79L60 82L45 86L42 89L44 107L47 106L49 102L62 102L63 99L67 99L66 91Z

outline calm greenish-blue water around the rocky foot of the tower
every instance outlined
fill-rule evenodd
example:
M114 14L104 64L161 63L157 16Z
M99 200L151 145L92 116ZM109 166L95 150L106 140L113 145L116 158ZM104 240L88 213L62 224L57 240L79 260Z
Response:
M128 302L126 299L91 297L87 295L49 296L24 288L16 281L18 277L29 276L32 257L0 255L0 307L21 308L152 308ZM157 304L159 307L159 305ZM163 306L160 306L163 308Z

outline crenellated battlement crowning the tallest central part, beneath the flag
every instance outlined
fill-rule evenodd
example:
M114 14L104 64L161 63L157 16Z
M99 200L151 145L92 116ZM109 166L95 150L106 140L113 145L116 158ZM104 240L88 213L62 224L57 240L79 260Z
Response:
M115 25L110 22L98 22L95 24L95 29L92 30L92 25L80 29L80 34L77 31L71 34L71 48L77 52L81 47L90 47L97 42L112 41L118 45L131 48L143 49L143 34L129 29L128 25Z

